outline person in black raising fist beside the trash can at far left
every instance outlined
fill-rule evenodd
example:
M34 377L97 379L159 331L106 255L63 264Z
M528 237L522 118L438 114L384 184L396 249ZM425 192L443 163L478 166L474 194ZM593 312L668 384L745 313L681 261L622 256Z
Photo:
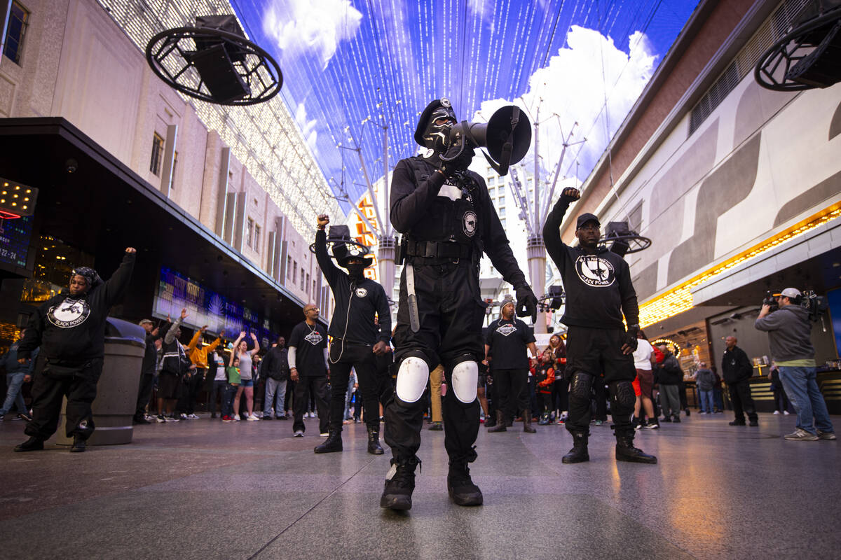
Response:
M46 359L33 380L32 420L24 430L29 440L15 451L44 448L44 442L56 432L65 396L66 434L73 437L70 450L85 450L94 429L91 403L103 370L105 319L129 286L135 253L132 247L125 249L123 263L107 282L91 268L73 270L68 290L51 297L29 319L18 361L24 363L39 346Z

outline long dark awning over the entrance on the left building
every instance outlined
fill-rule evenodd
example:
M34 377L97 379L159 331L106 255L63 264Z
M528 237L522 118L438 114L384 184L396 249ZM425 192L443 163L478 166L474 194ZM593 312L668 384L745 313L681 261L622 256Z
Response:
M151 313L167 267L277 322L280 332L303 319L303 301L64 118L0 119L0 176L40 189L34 240L47 234L95 255L103 276L125 247L138 249L124 317Z

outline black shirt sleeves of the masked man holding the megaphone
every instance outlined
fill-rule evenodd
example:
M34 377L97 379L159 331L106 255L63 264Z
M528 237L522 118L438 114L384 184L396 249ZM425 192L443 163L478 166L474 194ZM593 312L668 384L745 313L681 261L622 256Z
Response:
M437 160L420 156L399 160L391 179L391 223L400 233L417 241L447 242L464 238L462 217L453 212L457 202L442 196L445 178L436 172ZM415 173L418 170L418 173ZM505 229L490 200L484 179L468 171L477 188L470 191L473 208L478 217L478 228L468 233L471 242L484 251L502 277L515 287L527 285L526 275L520 270L511 251Z

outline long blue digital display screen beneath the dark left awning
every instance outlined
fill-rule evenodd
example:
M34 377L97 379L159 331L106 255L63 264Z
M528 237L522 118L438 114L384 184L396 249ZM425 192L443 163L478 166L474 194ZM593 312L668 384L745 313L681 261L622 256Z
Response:
M256 311L235 301L225 300L225 297L175 270L161 268L153 315L163 319L171 317L172 321L175 321L185 308L187 317L182 324L186 327L198 329L207 325L210 333L221 334L230 340L240 336L240 332L246 331L249 343L249 333L254 332L262 346L266 345L267 340L276 339L278 336L261 328L268 325L269 321L260 317Z

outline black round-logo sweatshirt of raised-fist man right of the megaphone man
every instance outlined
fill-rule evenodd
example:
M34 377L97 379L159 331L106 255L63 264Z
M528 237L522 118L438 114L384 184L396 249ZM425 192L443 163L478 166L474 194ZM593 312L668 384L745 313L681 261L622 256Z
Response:
M625 259L605 247L595 251L569 247L561 241L560 226L571 199L561 196L543 226L543 243L561 273L566 290L564 325L590 328L622 328L639 324L637 292Z

